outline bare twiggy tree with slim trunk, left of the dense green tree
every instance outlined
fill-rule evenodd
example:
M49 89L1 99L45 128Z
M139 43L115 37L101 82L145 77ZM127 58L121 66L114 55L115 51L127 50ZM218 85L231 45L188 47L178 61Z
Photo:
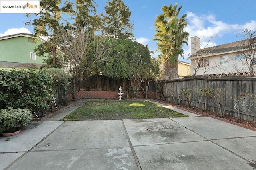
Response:
M106 61L112 51L112 40L105 36L94 35L93 41L89 29L77 26L71 29L61 29L59 44L61 51L67 56L64 65L69 66L71 74L73 98L76 100L76 82L83 74L88 74L95 68L96 62Z

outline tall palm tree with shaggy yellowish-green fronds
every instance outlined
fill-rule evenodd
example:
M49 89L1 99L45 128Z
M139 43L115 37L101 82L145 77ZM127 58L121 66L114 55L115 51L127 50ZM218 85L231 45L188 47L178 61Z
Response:
M161 51L158 57L162 60L164 70L162 76L165 80L178 78L178 56L183 57L182 45L188 44L189 34L184 31L188 25L187 14L178 18L182 6L178 10L177 6L178 3L174 6L163 6L164 14L160 14L155 20L156 34L153 40L158 41L157 50Z

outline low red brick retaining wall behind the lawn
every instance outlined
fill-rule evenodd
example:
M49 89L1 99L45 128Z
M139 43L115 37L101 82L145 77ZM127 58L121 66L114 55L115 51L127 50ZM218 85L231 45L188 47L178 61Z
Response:
M87 99L119 99L118 95L119 91L110 92L110 91L76 91L76 98L77 100L80 98L87 98ZM122 98L126 99L127 92L122 92ZM137 99L145 98L143 92L137 92L139 95L136 96ZM129 98L135 97L134 94L129 94ZM66 94L67 99L73 98L73 92ZM157 99L156 92L148 92L148 98L150 99Z

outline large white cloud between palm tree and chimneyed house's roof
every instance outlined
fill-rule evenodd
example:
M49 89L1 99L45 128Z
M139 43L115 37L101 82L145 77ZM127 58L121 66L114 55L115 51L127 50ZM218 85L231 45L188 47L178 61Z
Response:
M244 25L228 24L223 21L217 21L214 14L194 14L187 12L188 27L185 31L190 34L188 37L188 46L184 45L184 58L190 53L190 38L197 36L201 39L201 48L213 47L220 45L216 43L218 37L232 34L236 36L246 28L256 30L256 21L246 22ZM227 43L227 42L224 42Z

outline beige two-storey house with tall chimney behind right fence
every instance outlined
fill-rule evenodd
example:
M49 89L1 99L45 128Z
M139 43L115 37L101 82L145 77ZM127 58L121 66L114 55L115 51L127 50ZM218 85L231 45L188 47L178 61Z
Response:
M191 55L188 57L191 75L249 72L246 57L242 54L248 51L248 40L200 49L200 38L191 37ZM255 44L253 48L255 50Z

